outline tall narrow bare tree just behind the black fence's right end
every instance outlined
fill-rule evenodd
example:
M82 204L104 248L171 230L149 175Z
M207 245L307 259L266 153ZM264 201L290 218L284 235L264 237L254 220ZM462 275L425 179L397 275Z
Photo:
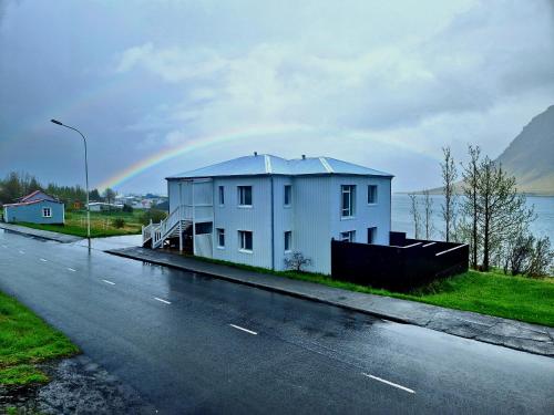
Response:
M444 203L441 206L442 218L444 220L444 239L449 242L452 239L455 228L458 196L455 193L455 180L458 179L458 169L455 167L454 158L450 152L450 147L443 147L442 154L444 156L441 163L442 172L442 194L444 195Z

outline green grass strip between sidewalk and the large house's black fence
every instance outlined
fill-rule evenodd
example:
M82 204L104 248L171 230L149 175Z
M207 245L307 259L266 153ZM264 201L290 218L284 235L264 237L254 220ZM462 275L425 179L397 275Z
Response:
M449 309L474 311L481 314L554 326L554 278L532 279L509 277L499 271L468 271L455 277L434 281L410 293L400 293L338 281L324 274L271 271L265 268L227 261L199 257L198 259L349 291L393 297Z

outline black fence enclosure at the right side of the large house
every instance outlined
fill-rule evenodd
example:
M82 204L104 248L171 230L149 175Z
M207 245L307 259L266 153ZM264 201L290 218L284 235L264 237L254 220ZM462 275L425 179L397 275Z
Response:
M469 247L406 238L390 232L390 246L331 241L334 279L408 291L433 280L465 272Z

